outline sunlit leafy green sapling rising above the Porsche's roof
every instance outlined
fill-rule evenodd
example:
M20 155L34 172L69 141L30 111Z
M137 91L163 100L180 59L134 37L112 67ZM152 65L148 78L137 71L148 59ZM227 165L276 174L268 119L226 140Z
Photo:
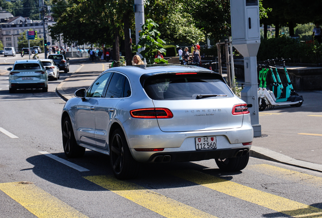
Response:
M133 48L136 51L139 48L144 48L144 50L140 51L140 54L145 58L147 64L154 63L153 50L159 50L161 53L166 54L166 49L163 48L166 42L159 38L160 32L156 30L158 26L159 25L154 23L152 19L147 19L140 32L140 41L138 42L138 45Z

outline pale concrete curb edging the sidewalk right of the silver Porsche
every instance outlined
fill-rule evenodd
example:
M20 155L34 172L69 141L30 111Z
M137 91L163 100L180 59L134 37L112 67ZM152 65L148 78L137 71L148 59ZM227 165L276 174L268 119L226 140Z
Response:
M303 160L294 159L292 157L280 154L267 148L252 146L250 156L260 159L266 159L274 162L284 163L286 165L308 169L312 171L322 172L322 165L311 163Z

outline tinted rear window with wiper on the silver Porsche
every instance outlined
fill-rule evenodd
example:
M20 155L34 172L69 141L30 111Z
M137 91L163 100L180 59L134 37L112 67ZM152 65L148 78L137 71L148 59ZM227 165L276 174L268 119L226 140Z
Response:
M222 77L216 73L171 73L149 76L144 80L143 88L153 100L197 99L198 95L233 97Z

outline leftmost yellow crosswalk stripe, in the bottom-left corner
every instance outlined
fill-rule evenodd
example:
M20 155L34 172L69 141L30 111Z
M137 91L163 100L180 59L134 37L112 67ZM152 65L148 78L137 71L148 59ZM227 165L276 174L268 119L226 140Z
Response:
M39 218L88 217L34 184L2 183L0 190Z

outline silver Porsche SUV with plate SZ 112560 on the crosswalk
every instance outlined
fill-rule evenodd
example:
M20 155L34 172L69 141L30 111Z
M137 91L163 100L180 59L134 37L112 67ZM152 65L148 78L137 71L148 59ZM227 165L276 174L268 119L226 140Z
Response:
M224 171L247 166L253 128L247 104L221 75L191 66L128 66L104 71L78 89L62 112L63 148L110 155L118 179L140 162L216 160Z

